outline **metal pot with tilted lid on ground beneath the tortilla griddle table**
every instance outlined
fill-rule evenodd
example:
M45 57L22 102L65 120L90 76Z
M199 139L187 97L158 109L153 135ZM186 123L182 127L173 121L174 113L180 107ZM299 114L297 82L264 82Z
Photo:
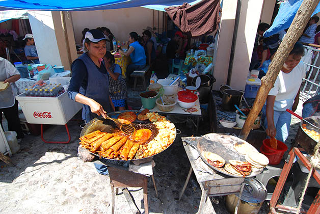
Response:
M246 178L245 186L238 206L238 214L256 214L266 199L268 192L265 186L256 178ZM226 196L226 207L230 213L234 213L238 201L238 194Z

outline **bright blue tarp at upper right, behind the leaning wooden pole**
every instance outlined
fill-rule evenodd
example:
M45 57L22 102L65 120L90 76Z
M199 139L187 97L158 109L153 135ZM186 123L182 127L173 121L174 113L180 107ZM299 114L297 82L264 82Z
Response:
M279 31L288 29L294 20L302 2L303 0L286 0L282 2L278 11L278 15L273 21L272 26L264 32L263 37L270 37ZM318 12L320 12L320 4L315 8L312 16Z

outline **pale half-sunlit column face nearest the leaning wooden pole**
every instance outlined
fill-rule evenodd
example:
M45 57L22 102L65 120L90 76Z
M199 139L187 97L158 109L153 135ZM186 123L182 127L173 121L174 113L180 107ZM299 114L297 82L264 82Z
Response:
M262 0L242 1L230 82L233 89L245 89L262 4Z

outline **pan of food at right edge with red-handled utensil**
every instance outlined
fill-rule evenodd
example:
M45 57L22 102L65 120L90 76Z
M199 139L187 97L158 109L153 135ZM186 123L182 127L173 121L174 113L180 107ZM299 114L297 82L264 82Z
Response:
M311 124L320 127L320 116L312 116L312 117L307 117L304 118L304 120L307 120ZM309 136L303 129L302 127L305 126L309 130L314 130L316 132L319 132L317 128L315 128L312 125L309 125L307 122L304 120L301 120L300 126L297 131L296 135L296 143L299 143L302 148L308 152L308 154L313 155L313 150L315 145L317 144L317 141L313 139L311 136Z

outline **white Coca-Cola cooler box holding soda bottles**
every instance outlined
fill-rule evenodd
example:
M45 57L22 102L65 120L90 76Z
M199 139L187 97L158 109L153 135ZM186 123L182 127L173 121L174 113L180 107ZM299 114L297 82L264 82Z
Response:
M24 94L16 99L28 123L65 125L82 109L82 104L70 99L67 92L58 97L26 97Z

